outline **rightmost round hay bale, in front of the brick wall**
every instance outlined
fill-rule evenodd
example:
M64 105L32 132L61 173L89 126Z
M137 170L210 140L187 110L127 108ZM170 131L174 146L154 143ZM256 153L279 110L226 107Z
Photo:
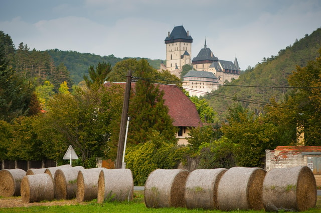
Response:
M273 168L265 176L262 197L266 211L305 211L315 207L313 172L307 166Z

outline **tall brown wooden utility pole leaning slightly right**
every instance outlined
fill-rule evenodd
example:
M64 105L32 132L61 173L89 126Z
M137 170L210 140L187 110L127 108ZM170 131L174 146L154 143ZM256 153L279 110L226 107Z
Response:
M121 168L121 164L122 164L122 155L123 155L124 143L125 143L127 113L128 113L128 106L129 106L129 95L130 95L130 87L131 87L131 74L132 74L131 70L128 70L126 89L125 89L125 95L124 95L124 102L122 105L121 120L120 120L119 140L118 140L116 166L115 166L116 168Z

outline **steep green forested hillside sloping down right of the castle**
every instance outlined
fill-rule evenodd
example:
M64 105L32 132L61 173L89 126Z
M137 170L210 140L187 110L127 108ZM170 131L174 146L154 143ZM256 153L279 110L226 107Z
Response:
M272 97L279 101L289 92L287 77L297 65L304 67L308 61L315 60L320 48L321 28L280 50L277 56L263 58L261 63L245 70L237 80L220 86L205 98L221 119L226 117L227 106L234 101L259 114Z

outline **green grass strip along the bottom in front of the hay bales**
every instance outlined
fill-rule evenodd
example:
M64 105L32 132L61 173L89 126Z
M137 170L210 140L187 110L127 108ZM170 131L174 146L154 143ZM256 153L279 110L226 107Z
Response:
M143 191L134 191L134 199L130 202L105 202L103 204L98 204L97 200L92 200L88 202L78 203L75 199L73 200L55 200L55 201L43 201L39 203L28 203L29 206L25 207L2 207L4 201L21 200L21 197L0 197L0 212L74 212L74 213L85 213L85 212L132 212L132 213L144 213L144 212L164 212L164 213L205 213L205 212L223 212L220 210L203 210L203 209L187 209L187 208L146 208L144 204ZM228 212L247 212L247 213L259 213L265 212L254 211L254 210L235 210ZM282 212L282 211L281 211ZM309 209L304 212L321 212L321 196L317 197L316 207Z

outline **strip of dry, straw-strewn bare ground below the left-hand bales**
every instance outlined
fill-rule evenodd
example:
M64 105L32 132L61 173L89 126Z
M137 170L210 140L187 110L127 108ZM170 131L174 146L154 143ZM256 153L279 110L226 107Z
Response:
M88 202L78 202L76 199L70 200L53 200L53 201L42 201L42 202L32 202L32 203L24 203L22 201L21 196L13 196L13 197L0 197L0 207L28 207L34 205L84 205L88 204Z

